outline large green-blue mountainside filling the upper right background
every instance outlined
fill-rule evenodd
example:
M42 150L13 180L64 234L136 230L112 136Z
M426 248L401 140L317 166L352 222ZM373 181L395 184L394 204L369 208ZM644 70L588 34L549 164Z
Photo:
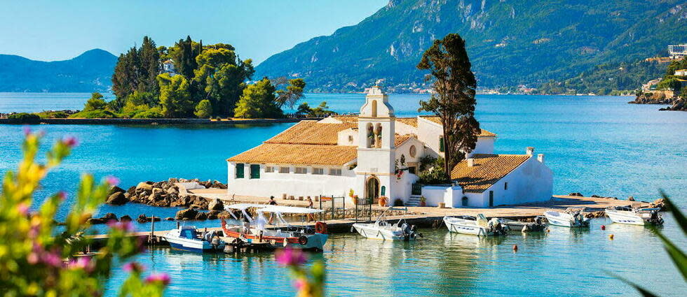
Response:
M355 26L273 55L255 77L298 76L325 92L379 78L421 85L422 52L454 32L468 43L479 86L538 86L686 41L687 1L391 0Z

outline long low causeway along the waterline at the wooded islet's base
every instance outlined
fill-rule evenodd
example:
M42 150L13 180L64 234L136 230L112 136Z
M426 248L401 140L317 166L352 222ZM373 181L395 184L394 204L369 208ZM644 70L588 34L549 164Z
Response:
M280 124L296 123L303 120L320 120L322 117L299 117L286 119L57 119L45 118L36 122L18 122L14 119L0 119L0 124L57 124L57 125L158 125L158 124L201 124L201 125L236 125L236 124Z

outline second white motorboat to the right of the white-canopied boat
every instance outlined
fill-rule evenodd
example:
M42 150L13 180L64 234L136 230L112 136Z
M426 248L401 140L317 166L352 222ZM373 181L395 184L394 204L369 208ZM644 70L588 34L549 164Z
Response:
M508 233L508 226L501 224L498 218L487 219L479 214L477 217L469 215L446 216L444 224L451 232L471 234L476 236L495 236Z

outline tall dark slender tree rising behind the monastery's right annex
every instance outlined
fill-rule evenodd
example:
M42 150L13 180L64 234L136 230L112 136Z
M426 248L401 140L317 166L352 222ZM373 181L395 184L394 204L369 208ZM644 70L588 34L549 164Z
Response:
M465 41L458 34L448 34L435 40L426 50L417 68L429 70L426 79L433 83L435 93L428 101L420 101L419 111L440 117L444 133L444 173L451 178L451 169L472 152L480 133L475 119L475 88L477 80L470 70L470 58Z

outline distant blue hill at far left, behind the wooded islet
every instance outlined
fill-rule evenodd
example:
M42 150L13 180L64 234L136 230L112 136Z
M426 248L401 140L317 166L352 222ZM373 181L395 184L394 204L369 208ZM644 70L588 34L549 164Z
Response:
M0 55L0 92L107 91L116 62L116 56L99 49L51 62Z

